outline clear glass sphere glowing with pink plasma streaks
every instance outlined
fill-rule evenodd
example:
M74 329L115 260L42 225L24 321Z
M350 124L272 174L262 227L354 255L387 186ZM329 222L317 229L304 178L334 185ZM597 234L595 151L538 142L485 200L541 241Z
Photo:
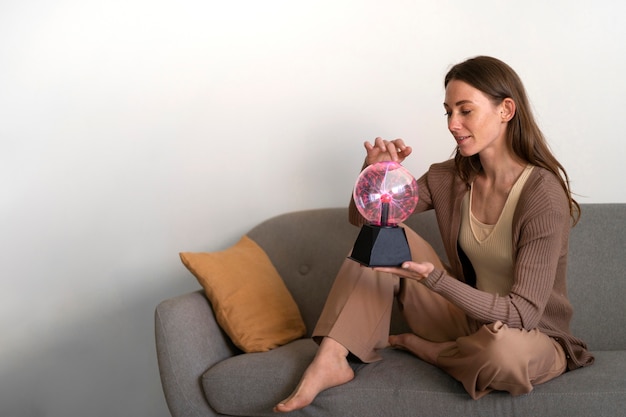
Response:
M377 162L365 168L354 186L354 202L371 224L396 226L406 220L419 199L417 181L397 162Z

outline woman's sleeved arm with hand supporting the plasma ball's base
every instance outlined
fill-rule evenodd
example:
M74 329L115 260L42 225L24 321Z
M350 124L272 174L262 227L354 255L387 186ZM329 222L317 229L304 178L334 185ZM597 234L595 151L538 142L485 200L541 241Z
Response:
M553 292L556 276L565 268L570 217L564 200L560 200L544 194L530 199L523 210L523 219L514 227L518 231L514 283L507 295L480 291L430 264L406 262L404 268L389 268L386 272L420 281L480 322L500 320L510 327L535 328Z

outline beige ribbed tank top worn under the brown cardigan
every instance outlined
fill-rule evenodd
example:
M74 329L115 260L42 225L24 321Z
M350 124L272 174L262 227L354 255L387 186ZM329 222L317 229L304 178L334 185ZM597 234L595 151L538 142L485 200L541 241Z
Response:
M496 224L484 224L472 214L472 189L461 205L459 244L476 272L476 288L500 296L513 285L513 214L532 165L519 176Z

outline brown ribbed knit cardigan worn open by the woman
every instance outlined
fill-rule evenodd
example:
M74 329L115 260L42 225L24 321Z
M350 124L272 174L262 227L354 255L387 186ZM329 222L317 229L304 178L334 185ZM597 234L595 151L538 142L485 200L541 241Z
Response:
M593 363L586 344L570 332L573 310L567 298L566 269L571 218L554 174L535 167L522 189L513 216L515 277L506 296L474 287L473 268L458 247L461 201L468 185L457 175L454 161L432 165L418 186L420 199L415 212L435 210L450 261L450 274L434 270L422 283L464 310L476 330L497 320L509 327L536 328L563 346L568 369ZM353 202L350 221L364 221Z

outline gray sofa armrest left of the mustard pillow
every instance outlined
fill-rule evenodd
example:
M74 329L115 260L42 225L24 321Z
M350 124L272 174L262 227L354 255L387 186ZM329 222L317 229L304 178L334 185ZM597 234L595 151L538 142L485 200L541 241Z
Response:
M236 353L215 320L202 291L161 302L155 311L161 384L173 417L216 415L200 379L207 369Z

